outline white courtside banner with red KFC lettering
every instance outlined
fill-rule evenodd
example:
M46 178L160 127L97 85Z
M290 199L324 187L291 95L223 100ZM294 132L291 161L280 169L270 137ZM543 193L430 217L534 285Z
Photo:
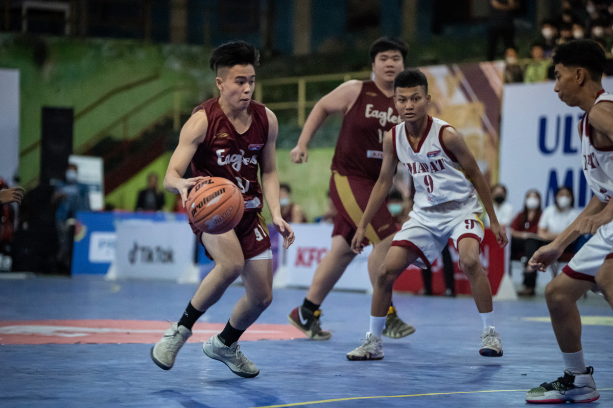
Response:
M317 265L332 245L332 224L292 224L296 239L284 250L280 239L281 267L284 269L283 286L309 287ZM372 246L356 256L343 273L334 289L371 291L368 278L368 255Z

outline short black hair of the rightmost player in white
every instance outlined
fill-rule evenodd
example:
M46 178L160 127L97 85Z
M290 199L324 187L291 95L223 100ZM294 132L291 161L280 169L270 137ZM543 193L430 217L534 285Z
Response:
M590 72L592 81L600 81L607 58L597 42L588 39L571 40L558 45L554 54L554 65L581 67Z

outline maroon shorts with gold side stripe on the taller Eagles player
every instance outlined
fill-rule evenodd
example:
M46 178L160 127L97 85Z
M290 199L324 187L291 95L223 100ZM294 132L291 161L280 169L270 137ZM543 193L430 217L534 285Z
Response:
M362 177L341 176L332 171L330 177L330 199L337 209L334 216L334 229L332 236L343 236L351 245L351 240L356 233L356 225L360 222L362 214L368 204L370 193L375 187L375 182ZM366 227L364 245L378 243L398 231L394 217L387 209L387 200L375 213L375 217Z

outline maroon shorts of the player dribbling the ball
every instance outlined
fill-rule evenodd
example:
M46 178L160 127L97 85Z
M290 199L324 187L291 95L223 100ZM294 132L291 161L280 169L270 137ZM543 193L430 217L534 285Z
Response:
M196 234L198 242L200 245L202 245L203 232L191 222L189 223L189 226L191 226L192 231L194 231L194 234ZM235 226L234 232L236 233L240 247L243 250L244 259L253 258L254 256L270 249L268 226L266 225L264 216L262 216L262 214L259 212L245 212L243 214L243 218L240 220L240 223ZM205 248L205 250L206 249L207 248ZM208 251L206 251L206 253L209 259L213 259Z

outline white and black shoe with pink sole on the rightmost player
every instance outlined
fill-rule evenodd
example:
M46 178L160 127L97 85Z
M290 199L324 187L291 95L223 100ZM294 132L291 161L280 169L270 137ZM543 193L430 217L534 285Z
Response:
M592 374L587 367L585 374L571 374L564 370L564 377L554 382L544 382L526 393L526 402L531 404L558 404L559 402L592 402L600 398Z

